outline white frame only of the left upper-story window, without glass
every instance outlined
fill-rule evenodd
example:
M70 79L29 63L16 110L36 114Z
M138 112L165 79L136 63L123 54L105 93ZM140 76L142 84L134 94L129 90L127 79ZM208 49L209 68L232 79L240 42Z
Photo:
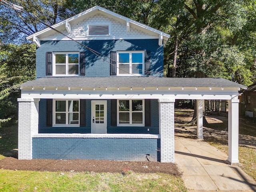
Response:
M56 54L66 54L66 74L56 74ZM68 54L78 54L78 74L68 74ZM80 52L53 52L53 76L79 76L80 75ZM71 64L71 63L70 63Z

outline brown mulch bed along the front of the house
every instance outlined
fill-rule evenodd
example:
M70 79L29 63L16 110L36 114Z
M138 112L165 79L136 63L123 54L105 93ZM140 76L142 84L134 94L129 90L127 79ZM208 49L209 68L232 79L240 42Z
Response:
M0 160L0 168L8 170L30 170L50 172L110 172L126 173L166 173L181 176L176 164L144 161L112 161L112 160L52 160L32 159L18 160L6 157Z

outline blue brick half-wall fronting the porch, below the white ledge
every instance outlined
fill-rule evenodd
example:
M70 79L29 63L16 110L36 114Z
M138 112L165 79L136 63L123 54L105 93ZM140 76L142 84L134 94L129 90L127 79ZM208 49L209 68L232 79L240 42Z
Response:
M33 138L33 159L105 159L160 161L160 139Z

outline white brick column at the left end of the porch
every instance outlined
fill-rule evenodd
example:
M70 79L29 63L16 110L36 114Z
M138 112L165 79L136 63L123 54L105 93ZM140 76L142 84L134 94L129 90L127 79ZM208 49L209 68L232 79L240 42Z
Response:
M32 159L32 134L38 134L39 101L18 98L18 159Z

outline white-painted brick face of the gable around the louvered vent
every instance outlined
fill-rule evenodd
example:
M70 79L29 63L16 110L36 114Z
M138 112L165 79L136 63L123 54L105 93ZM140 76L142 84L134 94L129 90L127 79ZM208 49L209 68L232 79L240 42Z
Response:
M138 30L134 27L130 27L130 32L127 32L126 30L126 22L120 22L118 20L114 20L113 18L109 18L107 16L104 16L103 14L96 14L94 16L91 16L88 19L84 19L84 20L80 20L77 22L72 21L70 22L71 25L71 34L68 34L68 32L66 31L66 28L63 28L60 30L58 29L60 32L70 36L71 38L92 38L93 36L86 36L86 27L88 24L110 24L110 38L112 39L125 39L125 38L132 38L132 37L150 37L153 36L152 34L148 34L146 32L143 32L141 30ZM41 37L42 40L44 40L44 38L47 39L56 39L56 40L60 40L62 38L64 38L64 36L62 34L59 34L58 32L54 32L50 35L48 35L47 37Z

